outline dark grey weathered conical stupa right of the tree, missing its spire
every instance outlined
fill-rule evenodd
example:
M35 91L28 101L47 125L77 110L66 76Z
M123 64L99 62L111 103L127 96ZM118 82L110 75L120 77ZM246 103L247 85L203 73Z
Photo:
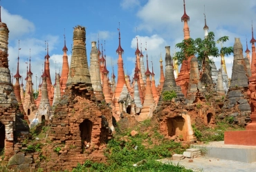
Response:
M248 104L248 77L246 74L246 63L244 62L243 47L240 39L235 38L234 60L232 66L231 84L226 95L223 110L226 110L227 116L232 116L235 122L243 125L249 118L250 105ZM221 114L223 118L224 114Z

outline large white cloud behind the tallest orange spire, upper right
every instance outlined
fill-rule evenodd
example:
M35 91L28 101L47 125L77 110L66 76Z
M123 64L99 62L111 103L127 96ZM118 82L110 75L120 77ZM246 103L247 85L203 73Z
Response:
M239 0L234 0L232 3L221 0L185 2L186 13L190 16L188 23L190 37L196 39L204 36L203 6L205 5L209 32L214 32L216 38L229 36L229 41L224 43L223 46L233 46L235 37L239 37L244 45L244 50L246 49L245 35L247 34L249 37L251 35L250 16L255 16L255 10L253 9L255 8L255 1L248 0L246 3ZM248 8L250 6L252 8ZM141 20L138 30L140 32L146 31L149 34L158 33L158 36L165 38L165 42L171 46L171 52L174 51L174 45L183 40L183 23L181 22L183 1L149 0L145 6L138 10L136 15ZM133 43L135 45L136 41L133 40ZM220 47L220 45L217 46ZM164 45L159 47L163 49ZM161 52L163 54L163 51ZM225 57L229 77L231 77L232 72L232 58L232 56ZM214 61L216 61L218 68L220 66L219 58L214 58Z

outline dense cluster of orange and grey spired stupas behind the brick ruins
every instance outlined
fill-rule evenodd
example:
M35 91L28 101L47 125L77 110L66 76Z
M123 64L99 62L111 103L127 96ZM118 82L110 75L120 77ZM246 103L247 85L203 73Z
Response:
M188 21L190 17L185 12L185 1L184 1L184 14L181 17L181 21L184 22L183 32L184 39L190 38L190 28L188 26ZM203 27L205 32L205 38L208 36L208 25ZM125 114L130 114L135 116L136 120L141 121L147 118L151 118L154 109L163 100L163 92L174 91L177 94L177 98L185 98L184 101L188 105L192 105L196 97L203 97L203 93L207 92L205 85L201 83L201 77L203 74L199 70L198 62L196 56L188 56L187 60L183 61L181 64L181 69L179 71L179 65L177 61L174 60L170 53L170 46L165 47L165 74L163 69L163 60L160 56L160 80L159 85L156 85L154 79L154 67L149 67L149 59L147 54L147 48L145 56L143 55L142 47L137 47L135 51L135 64L134 71L131 72L134 75L130 76L127 72L125 74L123 67L122 54L124 50L121 46L121 36L119 29L118 38L118 49L116 53L118 54L118 77L113 71L111 75L107 69L107 58L103 45L98 40L91 42L91 53L90 53L90 66L87 63L86 56L86 31L83 27L77 26L74 28L73 35L73 47L72 47L72 57L71 65L68 65L68 56L66 47L66 39L64 37L64 47L62 51L63 63L61 74L55 74L55 83L52 83L50 74L50 55L48 54L48 44L47 53L44 57L44 70L42 72L42 80L39 81L39 94L35 99L33 94L33 82L30 67L27 67L26 74L26 85L21 82L19 84L19 57L17 62L17 74L14 76L17 78L15 83L15 94L17 100L20 102L20 109L25 112L26 118L28 118L30 125L37 125L37 123L42 122L42 120L51 120L51 114L53 107L57 105L65 94L65 89L67 85L72 85L73 83L86 83L93 88L93 94L95 100L98 102L108 103L113 112L113 117L116 120L120 120ZM84 44L83 44L84 43ZM255 39L252 38L250 43L253 44L252 47L252 58L250 58L250 50L248 50L248 45L246 47L246 58L244 58L244 64L246 65L246 74L250 76L255 74ZM175 55L175 54L174 54ZM144 58L146 58L146 64L144 64ZM213 56L208 56L210 60ZM250 61L252 59L252 61ZM214 63L211 65L211 77L213 83L214 92L217 92L219 96L225 96L228 92L228 88L232 83L226 71L226 63L223 54L221 54L221 68L217 70ZM149 69L151 68L151 69Z

